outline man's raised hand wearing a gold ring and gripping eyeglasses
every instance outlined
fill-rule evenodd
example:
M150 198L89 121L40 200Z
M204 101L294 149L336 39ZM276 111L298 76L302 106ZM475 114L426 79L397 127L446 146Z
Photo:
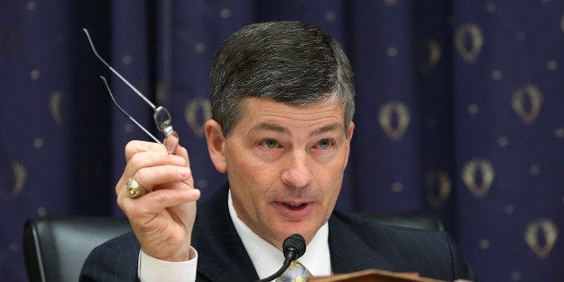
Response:
M125 148L127 164L116 194L145 253L159 260L181 261L189 258L200 192L194 189L188 151L178 145L173 153L168 154L156 143L129 142ZM129 178L147 193L137 198L128 196Z

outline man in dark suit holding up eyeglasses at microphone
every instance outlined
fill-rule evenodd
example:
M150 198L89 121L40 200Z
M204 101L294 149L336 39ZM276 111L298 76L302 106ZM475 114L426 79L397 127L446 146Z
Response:
M133 233L93 250L81 280L251 281L299 261L326 276L363 269L473 279L448 235L334 211L354 131L354 84L339 43L301 22L237 31L211 73L207 146L228 184L198 204L186 149L132 141L116 185Z

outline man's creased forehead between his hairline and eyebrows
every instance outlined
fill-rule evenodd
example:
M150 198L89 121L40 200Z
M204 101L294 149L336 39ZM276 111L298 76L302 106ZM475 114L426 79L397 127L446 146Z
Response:
M288 128L317 128L332 124L344 129L344 115L344 106L337 98L305 105L288 105L269 99L250 97L241 102L241 115L237 123L249 127L248 129L264 128L265 124Z

